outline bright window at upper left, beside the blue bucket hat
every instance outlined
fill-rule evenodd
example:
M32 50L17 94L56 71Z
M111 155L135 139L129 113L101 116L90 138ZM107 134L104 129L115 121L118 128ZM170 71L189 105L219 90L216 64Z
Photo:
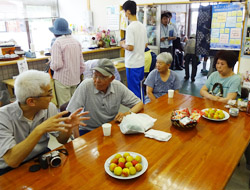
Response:
M49 27L57 17L57 0L1 0L0 41L13 39L25 51L30 43L36 51L50 48Z

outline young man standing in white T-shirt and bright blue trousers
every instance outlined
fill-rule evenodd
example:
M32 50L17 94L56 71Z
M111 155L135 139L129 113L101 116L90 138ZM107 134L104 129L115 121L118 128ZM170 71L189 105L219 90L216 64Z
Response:
M145 26L136 18L136 3L134 1L126 1L122 7L130 21L126 29L126 40L120 42L120 45L125 49L128 88L143 100L142 80L145 65L144 50L148 41L147 31Z

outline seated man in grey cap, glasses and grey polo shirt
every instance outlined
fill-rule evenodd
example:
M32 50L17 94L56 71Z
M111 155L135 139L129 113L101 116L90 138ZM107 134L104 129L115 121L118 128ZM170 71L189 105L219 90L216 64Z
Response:
M85 122L86 127L80 128L80 135L114 119L121 122L124 116L143 109L142 101L125 85L114 80L115 67L110 60L100 59L93 70L93 78L82 81L66 108L70 112L80 107L89 111L90 120ZM118 113L120 104L130 110Z

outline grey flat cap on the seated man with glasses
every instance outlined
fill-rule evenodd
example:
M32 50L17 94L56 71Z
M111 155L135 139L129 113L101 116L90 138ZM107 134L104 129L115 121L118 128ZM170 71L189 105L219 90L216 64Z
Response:
M115 75L115 66L109 59L100 59L92 70L98 71L106 77Z

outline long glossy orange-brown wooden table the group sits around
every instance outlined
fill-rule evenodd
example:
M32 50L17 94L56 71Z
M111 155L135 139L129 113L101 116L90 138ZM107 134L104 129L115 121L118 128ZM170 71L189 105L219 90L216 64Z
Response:
M104 137L98 128L64 145L69 156L58 168L28 172L29 162L0 177L0 189L174 189L219 190L230 179L250 139L250 117L214 122L201 118L195 129L179 131L171 126L174 109L216 107L221 103L198 97L167 95L145 105L144 113L156 118L154 129L172 133L168 142L143 134L123 135L114 122L112 135ZM138 178L118 180L104 171L105 160L120 151L137 152L149 167Z

